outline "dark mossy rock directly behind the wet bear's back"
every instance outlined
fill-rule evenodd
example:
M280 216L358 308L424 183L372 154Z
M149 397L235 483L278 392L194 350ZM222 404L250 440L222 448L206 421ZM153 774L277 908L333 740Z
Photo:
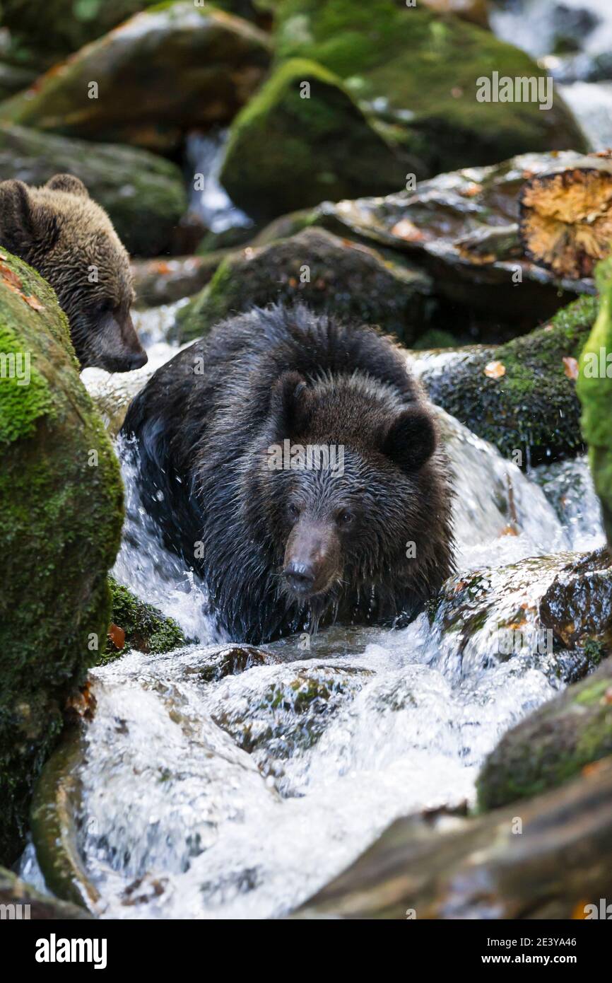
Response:
M429 292L426 274L400 256L391 262L370 247L306 229L223 260L210 283L178 312L177 332L188 341L253 305L302 300L315 311L378 324L410 341L422 325Z

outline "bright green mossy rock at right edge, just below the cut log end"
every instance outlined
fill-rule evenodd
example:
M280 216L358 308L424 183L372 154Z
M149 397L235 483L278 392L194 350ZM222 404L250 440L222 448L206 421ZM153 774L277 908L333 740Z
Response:
M578 378L583 433L608 544L612 546L612 260L597 267L600 306Z

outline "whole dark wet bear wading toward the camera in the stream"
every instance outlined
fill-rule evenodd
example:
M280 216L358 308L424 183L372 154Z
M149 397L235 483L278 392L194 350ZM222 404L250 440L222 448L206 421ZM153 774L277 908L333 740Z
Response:
M253 308L159 369L123 434L146 510L233 640L406 623L453 570L432 412L375 328ZM298 445L342 448L343 468L279 467Z

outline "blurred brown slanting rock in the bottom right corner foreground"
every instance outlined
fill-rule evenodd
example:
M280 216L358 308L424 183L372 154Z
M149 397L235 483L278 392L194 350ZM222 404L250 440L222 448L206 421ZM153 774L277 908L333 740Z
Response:
M398 820L295 917L599 917L588 902L608 896L611 844L608 758L522 802L518 816L512 806L475 819Z

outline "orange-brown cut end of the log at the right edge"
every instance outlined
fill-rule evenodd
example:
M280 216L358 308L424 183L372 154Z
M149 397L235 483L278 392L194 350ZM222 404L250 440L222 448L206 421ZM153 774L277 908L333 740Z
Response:
M597 163L533 177L521 193L526 256L559 277L590 276L612 251L612 165Z

